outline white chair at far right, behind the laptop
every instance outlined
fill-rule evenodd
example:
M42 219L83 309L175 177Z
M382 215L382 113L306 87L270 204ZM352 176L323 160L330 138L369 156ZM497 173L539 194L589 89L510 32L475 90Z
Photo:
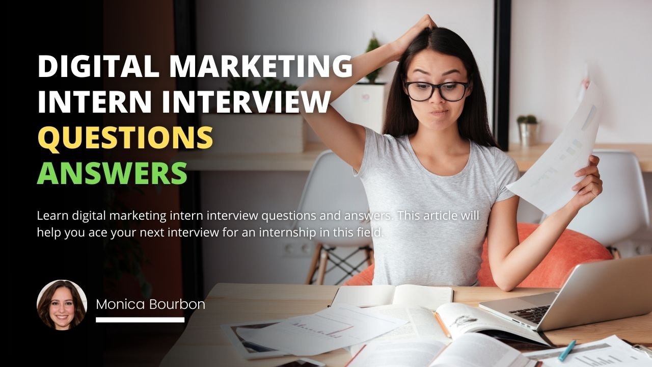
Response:
M582 208L568 229L586 234L612 250L638 230L649 225L647 197L636 155L625 150L594 150L603 191Z

